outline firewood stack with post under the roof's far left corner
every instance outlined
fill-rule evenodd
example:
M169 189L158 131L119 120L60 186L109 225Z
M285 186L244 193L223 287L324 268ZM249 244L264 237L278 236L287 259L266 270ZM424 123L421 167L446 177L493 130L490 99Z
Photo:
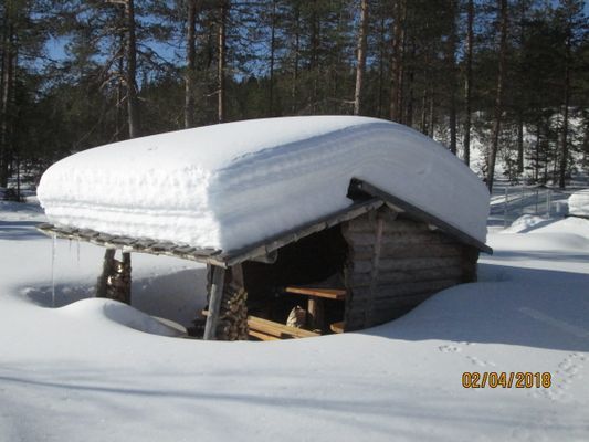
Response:
M123 260L115 259L115 250L104 255L103 274L98 278L96 297L130 304L130 253L123 253Z

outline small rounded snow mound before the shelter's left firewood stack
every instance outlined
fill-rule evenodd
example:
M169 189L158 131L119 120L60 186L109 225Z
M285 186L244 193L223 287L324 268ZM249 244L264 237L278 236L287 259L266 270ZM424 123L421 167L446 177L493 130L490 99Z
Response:
M60 311L67 315L83 316L84 318L107 318L125 327L150 335L169 337L186 336L186 330L182 332L177 325L172 325L171 322L151 317L118 301L105 298L81 299L60 308Z

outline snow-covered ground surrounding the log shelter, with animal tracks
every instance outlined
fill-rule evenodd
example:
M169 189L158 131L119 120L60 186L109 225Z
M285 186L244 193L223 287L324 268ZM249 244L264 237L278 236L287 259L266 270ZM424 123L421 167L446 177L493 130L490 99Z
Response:
M587 441L589 221L493 233L480 282L362 333L275 343L165 334L203 270L134 255L137 309L88 298L102 250L52 241L0 203L0 441ZM536 220L537 221L537 220ZM149 333L145 333L145 332ZM463 372L550 372L465 389Z

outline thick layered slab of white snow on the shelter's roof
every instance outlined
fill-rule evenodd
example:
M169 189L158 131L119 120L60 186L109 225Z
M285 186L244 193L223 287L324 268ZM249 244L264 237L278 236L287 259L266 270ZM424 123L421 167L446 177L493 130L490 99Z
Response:
M50 167L38 194L56 224L230 251L345 209L353 177L485 241L480 179L432 139L366 117L257 119L115 143Z

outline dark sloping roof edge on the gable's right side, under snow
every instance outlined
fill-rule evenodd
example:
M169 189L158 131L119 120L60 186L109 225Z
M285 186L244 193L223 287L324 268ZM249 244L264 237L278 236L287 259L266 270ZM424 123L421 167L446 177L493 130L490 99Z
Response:
M450 236L454 236L456 240L464 244L472 245L476 249L478 249L481 252L493 254L493 249L491 249L488 245L482 243L477 239L471 236L467 233L464 233L460 229L449 224L448 222L439 219L438 217L425 212L424 210L401 200L400 198L397 198L381 189L379 189L376 186L372 186L371 183L353 178L350 181L350 190L348 191L349 194L354 196L360 196L365 194L369 198L378 198L382 201L386 201L388 206L395 207L397 211L402 211L404 214L409 218L412 218L418 221L422 221L427 224L435 225L438 229L440 229L442 232L449 234Z

